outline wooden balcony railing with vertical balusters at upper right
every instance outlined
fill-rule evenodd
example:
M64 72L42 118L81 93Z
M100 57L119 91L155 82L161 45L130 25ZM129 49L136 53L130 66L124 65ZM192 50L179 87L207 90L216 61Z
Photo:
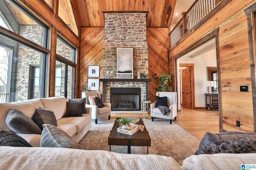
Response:
M170 33L170 47L199 23L221 0L196 0Z

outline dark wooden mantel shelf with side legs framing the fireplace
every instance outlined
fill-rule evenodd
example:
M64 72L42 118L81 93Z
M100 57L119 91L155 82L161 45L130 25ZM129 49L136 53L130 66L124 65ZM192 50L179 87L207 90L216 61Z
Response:
M151 78L100 78L100 81L103 82L102 87L102 102L105 102L106 94L106 82L145 82L146 83L146 100L148 100L148 82L151 82Z

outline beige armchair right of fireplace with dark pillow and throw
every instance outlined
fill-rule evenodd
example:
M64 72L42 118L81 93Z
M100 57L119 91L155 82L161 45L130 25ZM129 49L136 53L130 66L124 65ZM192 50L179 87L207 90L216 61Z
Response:
M172 119L176 120L177 116L177 92L156 92L156 96L167 97L167 104L170 111L163 115L163 113L156 107L156 103L150 105L151 119L154 121L154 117L170 119L170 124L172 124Z

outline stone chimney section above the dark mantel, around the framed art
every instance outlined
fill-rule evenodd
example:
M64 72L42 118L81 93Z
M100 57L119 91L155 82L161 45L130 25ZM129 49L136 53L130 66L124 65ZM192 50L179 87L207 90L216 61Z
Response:
M116 78L116 48L133 48L133 77L148 74L146 13L105 13L102 78Z

